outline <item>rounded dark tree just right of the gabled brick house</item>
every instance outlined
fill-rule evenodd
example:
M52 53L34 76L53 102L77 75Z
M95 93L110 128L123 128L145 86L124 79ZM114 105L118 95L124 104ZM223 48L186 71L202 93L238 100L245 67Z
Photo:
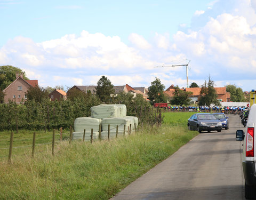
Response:
M30 87L26 92L26 97L28 101L43 102L48 97L49 92L44 87Z

